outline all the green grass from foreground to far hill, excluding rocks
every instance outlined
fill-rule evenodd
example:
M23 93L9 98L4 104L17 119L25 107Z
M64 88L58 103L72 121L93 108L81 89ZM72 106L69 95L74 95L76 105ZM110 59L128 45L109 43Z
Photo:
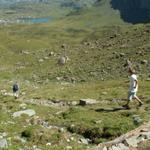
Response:
M35 109L37 115L48 120L49 124L63 126L71 132L92 139L94 143L110 140L137 127L137 124L133 122L133 115L139 115L143 122L149 119L150 84L146 79L149 76L150 66L149 63L140 64L144 59L150 62L149 25L122 25L119 15L115 18L116 15L111 13L113 10L110 11L108 9L110 6L106 6L104 4L90 8L77 16L68 16L50 24L8 25L0 28L0 88L10 92L12 80L19 80L21 92L25 92L19 100L30 98L69 101L80 98L104 100L104 104L70 108L58 116L55 113L61 111L61 108L27 106ZM109 12L108 15L102 17L103 11L99 11L99 8L103 8L103 11L109 10L106 11ZM97 19L97 16L101 17ZM112 21L110 18L113 18ZM87 25L89 20L91 24ZM111 26L116 22L115 20L119 25ZM107 26L104 26L106 21ZM61 48L63 43L67 45L66 52L70 61L65 66L59 66L57 60L64 54ZM29 54L22 54L22 51L27 51ZM55 56L49 56L48 60L38 62L39 59L48 56L51 51L55 53ZM139 51L143 54L134 55ZM118 57L120 53L125 53L125 56ZM101 107L118 107L112 99L126 98L128 85L124 83L127 74L123 65L127 58L132 59L136 67L140 64L140 69L138 68L141 74L139 95L144 97L146 110L136 109L133 102L131 105L133 109L129 111L110 113L95 111ZM56 77L65 78L56 82ZM70 77L74 77L77 82L75 84L63 82L70 82ZM99 81L103 79L104 81ZM87 148L79 144L78 140L68 144L65 133L62 134L57 130L55 132L44 130L40 125L28 127L27 116L12 119L10 113L20 110L20 103L22 102L16 102L11 97L1 96L0 107L3 115L0 119L5 122L7 118L15 122L14 125L5 127L2 123L0 124L1 132L7 132L8 136L13 136L11 150L33 145L38 145L42 150L49 149L45 147L46 141L52 143L50 148L54 150L65 149L67 145L71 145L73 149ZM120 105L123 103L124 101L121 101ZM4 111L5 107L9 110L8 112ZM73 124L75 126L72 126ZM20 128L20 126L24 127ZM22 144L14 137L21 136L22 131L26 130L29 130L31 136L27 143ZM39 141L37 138L34 140L38 137L39 131L44 133L42 140ZM75 138L79 135L73 134Z

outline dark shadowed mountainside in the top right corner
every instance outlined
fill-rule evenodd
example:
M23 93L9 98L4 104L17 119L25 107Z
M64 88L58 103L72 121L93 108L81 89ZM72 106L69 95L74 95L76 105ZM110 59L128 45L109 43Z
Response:
M121 18L130 23L150 22L149 0L111 0L112 7L118 9Z

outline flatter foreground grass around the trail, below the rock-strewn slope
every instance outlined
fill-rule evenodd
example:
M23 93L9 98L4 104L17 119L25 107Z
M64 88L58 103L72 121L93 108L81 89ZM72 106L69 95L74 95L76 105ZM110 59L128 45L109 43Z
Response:
M5 82L6 83L6 82ZM8 86L9 85L9 86ZM5 84L5 89L11 91L11 83ZM1 83L1 88L4 88L4 84ZM144 109L137 109L137 103L133 101L131 103L131 110L120 110L114 112L107 111L96 111L100 108L108 109L120 107L125 103L124 100L120 100L119 104L112 101L113 99L123 99L126 98L128 85L124 83L124 80L121 81L103 81L99 83L89 82L89 83L78 83L78 84L69 84L61 85L56 83L51 83L51 85L40 85L40 89L31 91L30 85L21 85L22 92L26 92L25 95L20 96L19 101L14 100L13 97L1 96L1 125L0 131L8 133L12 138L13 145L10 146L10 149L19 149L25 146L38 145L39 148L48 149L45 147L47 142L51 142L51 149L65 149L69 144L74 149L85 149L86 146L83 144L77 144L78 139L81 136L89 138L92 140L93 144L98 144L103 141L108 141L120 136L123 133L126 133L137 126L142 122L149 120L149 83L145 81L140 82L140 91L138 95L141 95L142 100L147 107ZM61 89L63 92L61 92ZM115 93L115 92L116 93ZM72 92L72 93L71 93ZM103 94L107 92L107 94ZM19 111L19 105L24 102L24 100L32 99L60 99L60 100L79 100L80 98L94 98L97 99L100 104L91 105L91 106L76 106L70 107L64 113L56 115L57 112L62 111L63 108L55 107L45 107L28 104L28 109L34 109L36 115L40 119L49 122L50 125L56 125L63 127L66 131L73 133L74 141L67 142L66 136L69 135L66 132L60 132L57 129L44 129L40 125L31 124L29 122L34 122L34 117L29 118L26 115L23 115L19 118L13 119L10 114L15 111ZM101 101L103 100L103 102ZM5 109L7 108L7 109ZM9 111L4 111L9 110ZM135 124L133 121L133 115L139 115L142 118L140 124ZM112 117L113 116L113 117ZM7 120L7 121L6 121ZM33 120L33 121L32 121ZM14 122L12 125L4 126L2 122ZM9 124L9 123L8 123ZM42 138L39 140L40 132L43 133ZM24 145L16 136L25 136L27 138L27 143ZM27 136L27 137L26 137ZM72 137L71 136L71 137ZM36 138L35 138L36 137ZM63 143L61 142L63 141ZM93 146L93 144L89 146ZM77 147L76 147L77 146Z

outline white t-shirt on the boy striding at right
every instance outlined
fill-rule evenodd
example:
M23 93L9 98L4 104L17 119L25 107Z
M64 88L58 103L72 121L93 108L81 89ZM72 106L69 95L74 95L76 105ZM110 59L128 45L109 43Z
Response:
M138 85L136 85L136 81L137 81L137 76L135 74L132 74L130 76L130 88L129 88L130 92L138 91ZM136 86L136 88L135 88L135 86Z

